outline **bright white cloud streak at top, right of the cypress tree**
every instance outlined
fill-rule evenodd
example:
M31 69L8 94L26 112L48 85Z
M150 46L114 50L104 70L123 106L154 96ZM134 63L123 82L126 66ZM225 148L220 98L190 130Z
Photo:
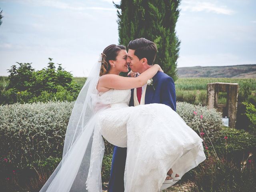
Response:
M181 8L184 11L192 11L192 12L214 12L217 14L225 14L232 15L235 12L227 6L216 5L212 2L199 1L199 0L184 0L181 3Z

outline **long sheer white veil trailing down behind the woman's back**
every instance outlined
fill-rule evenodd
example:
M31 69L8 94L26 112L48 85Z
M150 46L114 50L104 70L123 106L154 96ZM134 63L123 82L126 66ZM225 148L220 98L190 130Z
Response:
M101 56L100 56L101 60ZM99 61L100 61L99 60ZM97 62L82 87L66 130L62 160L40 192L102 192L101 166L104 141L96 124L96 89L101 62Z

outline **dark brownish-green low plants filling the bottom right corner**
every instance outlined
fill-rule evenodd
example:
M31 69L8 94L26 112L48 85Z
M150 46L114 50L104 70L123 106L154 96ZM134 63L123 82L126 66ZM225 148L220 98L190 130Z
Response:
M244 162L245 164L243 163L242 168L240 168L225 158L218 159L214 156L208 156L204 162L193 170L198 191L254 192L256 188L256 169L253 162Z

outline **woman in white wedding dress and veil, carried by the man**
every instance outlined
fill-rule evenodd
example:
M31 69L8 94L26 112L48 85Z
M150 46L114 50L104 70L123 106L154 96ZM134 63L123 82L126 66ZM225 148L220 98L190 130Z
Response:
M68 122L62 160L40 192L102 192L102 136L127 147L125 192L158 192L170 168L182 178L206 159L203 140L172 108L128 106L130 89L162 69L154 64L136 78L122 77L126 58L124 46L110 45L93 66Z

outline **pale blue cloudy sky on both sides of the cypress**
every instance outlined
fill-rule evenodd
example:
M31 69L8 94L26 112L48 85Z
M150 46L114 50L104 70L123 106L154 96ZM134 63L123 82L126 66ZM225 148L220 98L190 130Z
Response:
M255 0L182 0L179 8L178 68L256 64ZM16 62L41 70L48 58L87 76L104 48L118 44L112 0L0 0L0 10L0 76Z

